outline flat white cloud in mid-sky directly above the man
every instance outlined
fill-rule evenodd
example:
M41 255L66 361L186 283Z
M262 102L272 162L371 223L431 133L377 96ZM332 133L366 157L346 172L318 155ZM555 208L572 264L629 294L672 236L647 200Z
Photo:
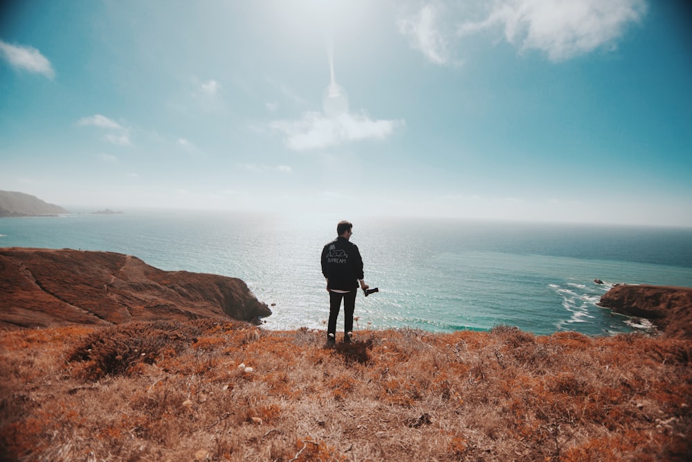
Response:
M329 148L351 141L385 139L403 121L373 121L365 114L341 114L329 118L319 112L307 112L298 120L273 121L269 127L286 136L291 150Z

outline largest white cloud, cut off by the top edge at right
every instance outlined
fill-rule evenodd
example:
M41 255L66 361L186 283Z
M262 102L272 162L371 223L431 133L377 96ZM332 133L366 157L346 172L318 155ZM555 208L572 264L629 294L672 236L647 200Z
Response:
M561 61L614 46L628 24L646 13L644 0L504 0L486 19L459 26L459 35L500 26L507 42Z

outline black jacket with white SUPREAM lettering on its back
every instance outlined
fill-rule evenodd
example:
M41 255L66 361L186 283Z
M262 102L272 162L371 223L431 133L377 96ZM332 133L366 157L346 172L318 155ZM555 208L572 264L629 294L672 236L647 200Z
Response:
M339 236L322 249L322 274L328 289L354 290L363 279L363 258L358 247Z

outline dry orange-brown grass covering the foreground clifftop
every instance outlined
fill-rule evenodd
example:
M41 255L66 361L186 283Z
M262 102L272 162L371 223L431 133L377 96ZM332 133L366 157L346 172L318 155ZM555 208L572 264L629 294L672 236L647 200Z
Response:
M20 461L683 461L692 342L159 321L3 332ZM239 364L253 368L246 371Z

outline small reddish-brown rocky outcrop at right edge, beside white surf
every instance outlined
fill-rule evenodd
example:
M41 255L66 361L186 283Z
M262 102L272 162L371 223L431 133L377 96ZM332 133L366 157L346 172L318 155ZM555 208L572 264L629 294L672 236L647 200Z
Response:
M649 319L666 337L692 339L692 288L616 285L601 296L603 308Z

